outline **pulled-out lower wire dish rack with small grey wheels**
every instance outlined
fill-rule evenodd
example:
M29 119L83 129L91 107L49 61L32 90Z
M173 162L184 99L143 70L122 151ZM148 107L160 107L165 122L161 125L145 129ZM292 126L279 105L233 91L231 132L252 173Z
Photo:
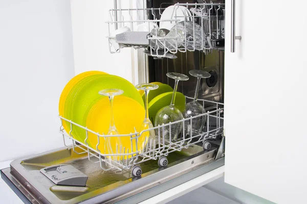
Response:
M191 99L193 98L186 96L186 100ZM161 124L141 132L135 131L135 133L127 135L104 135L96 133L90 129L87 129L87 127L59 116L62 124L63 122L67 121L71 127L71 131L67 133L64 130L63 125L61 125L60 133L63 136L63 142L67 148L72 148L76 154L87 154L88 159L92 162L99 163L101 169L105 171L130 171L134 177L137 177L142 173L142 169L139 166L140 163L148 160L158 160L159 166L165 167L168 163L167 156L171 152L181 151L183 148L188 148L192 145L201 143L203 143L202 146L204 150L210 149L211 144L209 140L216 139L223 134L224 104L205 99L198 99L198 101L204 106L207 111L206 113L170 122L168 124ZM195 130L193 127L187 129L188 131L186 131L186 124L194 124L193 121L200 119L200 117L203 117L204 121L206 121L202 127L202 131ZM171 129L172 125L183 126L183 131L176 140L172 140L171 131L167 131L167 129ZM74 138L72 130L76 126L81 127L81 129L85 131L86 137L84 141L79 141ZM143 148L144 150L141 151L140 148L138 148L138 145L140 144L140 137L142 134L145 134L151 130L156 131L158 138L151 141L148 141L148 138L145 138L144 147L146 148ZM95 147L93 145L90 146L87 142L89 139L89 133L94 134L98 139L98 143L95 145ZM130 140L130 148L117 145L116 149L112 149L111 152L106 152L105 149L100 149L99 145L105 141L109 141L107 140L109 137L128 137ZM72 147L69 147L65 143L65 138L69 138L73 141ZM153 143L154 145L148 145L149 143Z

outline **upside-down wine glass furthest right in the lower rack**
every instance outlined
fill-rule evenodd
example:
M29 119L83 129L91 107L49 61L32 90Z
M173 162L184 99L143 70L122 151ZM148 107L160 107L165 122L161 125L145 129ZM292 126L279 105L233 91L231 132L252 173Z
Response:
M203 71L203 70L190 70L189 74L192 75L193 77L197 77L197 84L196 84L194 99L190 103L187 103L185 106L185 111L183 113L185 118L193 117L193 116L200 115L206 112L205 108L200 103L198 103L197 97L198 97L198 93L200 89L201 79L211 77L210 73L208 73L207 71ZM205 120L206 120L206 116L202 116L202 117L193 118L192 124L190 120L185 121L186 135L193 136L193 135L200 134L205 124Z

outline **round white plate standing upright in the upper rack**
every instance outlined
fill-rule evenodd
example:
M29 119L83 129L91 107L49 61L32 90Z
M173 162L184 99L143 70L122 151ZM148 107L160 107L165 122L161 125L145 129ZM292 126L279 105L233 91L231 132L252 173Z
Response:
M176 17L177 16L177 17ZM167 20L167 21L160 21L160 29L167 29L170 30L176 24L176 21L171 21L179 19L180 21L191 20L191 13L190 11L184 6L169 6L167 7L162 15L160 20ZM178 21L179 22L179 21Z

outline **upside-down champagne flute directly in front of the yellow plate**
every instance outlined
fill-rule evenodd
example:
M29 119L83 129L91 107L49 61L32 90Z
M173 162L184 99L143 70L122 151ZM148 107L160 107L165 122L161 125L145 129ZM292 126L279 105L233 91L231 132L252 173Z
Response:
M114 96L121 95L124 93L123 90L120 89L104 89L98 92L100 95L108 96L109 101L110 101L110 111L111 111L111 120L110 120L110 127L108 130L107 135L119 135L116 127L115 127L115 122L114 122L114 114L113 114L113 100ZM120 149L121 142L120 142L120 137L105 137L104 140L104 151L105 154L119 154L119 152L116 152L115 149L112 148L112 143L117 143L118 149ZM106 152L106 149L108 152ZM116 162L117 161L117 156L108 156L105 157L105 165L109 168L114 168L117 166Z

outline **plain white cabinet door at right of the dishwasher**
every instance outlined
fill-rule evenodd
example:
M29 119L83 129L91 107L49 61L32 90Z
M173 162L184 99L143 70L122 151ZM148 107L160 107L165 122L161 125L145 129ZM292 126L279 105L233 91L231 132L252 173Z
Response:
M307 203L307 3L226 1L225 182L278 203Z

